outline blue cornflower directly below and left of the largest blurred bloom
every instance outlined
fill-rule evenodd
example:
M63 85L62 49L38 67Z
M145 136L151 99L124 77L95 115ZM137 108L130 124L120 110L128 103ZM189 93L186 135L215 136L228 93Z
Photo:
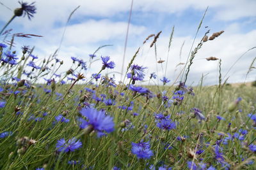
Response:
M82 143L81 141L76 138L69 139L68 142L65 141L64 138L58 140L56 144L56 149L58 152L74 152L74 150L77 150L78 148L81 148Z

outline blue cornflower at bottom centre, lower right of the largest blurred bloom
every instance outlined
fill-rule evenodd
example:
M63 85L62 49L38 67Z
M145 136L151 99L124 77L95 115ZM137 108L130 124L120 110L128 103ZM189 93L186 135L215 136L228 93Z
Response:
M150 159L153 152L150 150L150 144L148 143L132 143L132 153L138 157L138 159Z

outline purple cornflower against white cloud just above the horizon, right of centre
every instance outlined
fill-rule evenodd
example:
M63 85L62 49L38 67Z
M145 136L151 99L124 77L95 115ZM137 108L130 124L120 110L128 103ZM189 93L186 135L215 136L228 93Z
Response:
M147 69L147 67L138 66L137 64L133 64L131 67L131 73L127 74L127 78L131 78L132 84L135 83L135 81L143 80L144 79L144 69Z

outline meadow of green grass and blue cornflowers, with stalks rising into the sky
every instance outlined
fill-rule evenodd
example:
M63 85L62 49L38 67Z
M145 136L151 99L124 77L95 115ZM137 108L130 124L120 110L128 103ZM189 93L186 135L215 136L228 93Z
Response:
M20 4L10 22L33 17L34 4ZM140 48L118 82L106 70L119 63L97 55L104 46L70 56L60 74L58 50L38 59L33 47L13 47L14 38L1 42L0 169L256 169L256 87L222 80L216 57L205 62L218 60L218 85L204 86L204 76L193 87L186 83L198 50L223 32L207 31L192 45L177 80L146 74L147 66L134 62ZM145 41L156 48L160 34ZM88 74L89 66L97 73Z

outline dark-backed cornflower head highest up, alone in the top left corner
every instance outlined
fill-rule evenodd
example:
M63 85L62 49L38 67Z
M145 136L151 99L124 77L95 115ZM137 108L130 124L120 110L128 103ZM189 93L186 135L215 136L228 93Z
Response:
M24 17L28 15L29 20L31 20L31 17L34 17L33 15L36 13L35 2L28 4L19 1L19 4L21 5L21 8L17 8L14 11L14 15L20 17L24 12Z

